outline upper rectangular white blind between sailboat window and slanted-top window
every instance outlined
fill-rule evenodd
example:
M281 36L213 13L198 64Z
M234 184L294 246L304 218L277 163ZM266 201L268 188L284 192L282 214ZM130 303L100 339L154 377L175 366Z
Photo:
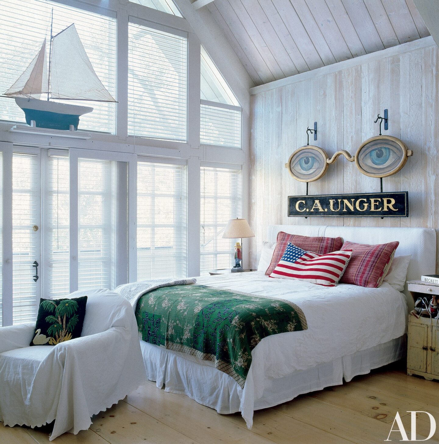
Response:
M130 135L187 139L187 37L173 31L128 25Z

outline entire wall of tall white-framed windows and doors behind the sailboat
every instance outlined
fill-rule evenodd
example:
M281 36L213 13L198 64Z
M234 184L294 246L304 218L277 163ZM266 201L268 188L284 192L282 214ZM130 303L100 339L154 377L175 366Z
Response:
M199 245L202 273L233 264L243 154L222 148L241 148L242 110L174 1L0 0L0 95L44 40L48 56L53 11L118 100L53 99L94 108L67 135L12 128L24 112L0 97L0 326L34 321L40 297L198 274Z

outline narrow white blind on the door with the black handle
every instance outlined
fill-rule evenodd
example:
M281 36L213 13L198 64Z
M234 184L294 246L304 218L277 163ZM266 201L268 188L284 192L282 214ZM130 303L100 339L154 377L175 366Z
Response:
M38 288L32 263L40 262L40 163L36 155L12 156L12 322L33 321L38 311ZM38 268L41 275L41 267Z

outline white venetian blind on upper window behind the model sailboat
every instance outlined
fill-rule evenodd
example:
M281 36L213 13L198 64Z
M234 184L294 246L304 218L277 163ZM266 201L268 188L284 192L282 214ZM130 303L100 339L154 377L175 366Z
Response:
M46 0L1 0L0 92L6 91L36 56L47 37L53 8L53 34L75 23L87 56L103 85L116 94L116 20L85 9ZM42 98L44 98L43 96ZM59 100L59 102L63 102ZM66 102L66 101L64 101ZM67 103L67 102L66 102ZM79 129L115 132L116 104L69 100L91 106L80 118ZM0 120L24 122L24 112L10 98L0 97Z

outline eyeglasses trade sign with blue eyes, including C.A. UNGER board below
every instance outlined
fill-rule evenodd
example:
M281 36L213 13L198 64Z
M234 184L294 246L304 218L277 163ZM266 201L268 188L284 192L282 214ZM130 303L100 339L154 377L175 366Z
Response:
M384 110L384 118L378 115L378 119L388 122L387 110ZM385 129L387 127L385 126ZM285 167L289 174L299 182L306 182L305 196L289 196L288 216L353 216L353 217L408 217L408 192L398 191L383 193L383 178L397 173L406 164L407 159L413 155L413 151L399 139L392 136L380 135L366 140L352 156L346 150L337 151L332 158L326 152L314 145L309 145L308 131L314 134L316 140L317 124L314 129L308 127L308 144L298 148L289 157ZM308 183L322 178L328 167L339 156L344 156L349 162L354 163L360 173L369 177L380 179L380 193L361 194L325 194L308 195Z

